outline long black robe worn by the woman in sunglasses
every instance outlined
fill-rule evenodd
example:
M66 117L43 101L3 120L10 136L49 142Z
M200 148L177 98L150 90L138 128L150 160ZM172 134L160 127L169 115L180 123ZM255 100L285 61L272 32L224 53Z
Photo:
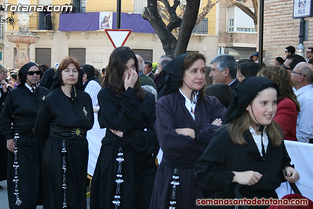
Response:
M34 95L24 84L20 84L8 93L1 112L0 127L6 139L18 137L18 175L15 175L13 167L16 163L15 154L8 154L7 185L10 209L35 209L36 205L43 205L41 170L45 139L37 137L33 130L39 108L48 90L39 86L36 91ZM19 180L18 195L14 194L15 178ZM20 206L19 200L22 201Z

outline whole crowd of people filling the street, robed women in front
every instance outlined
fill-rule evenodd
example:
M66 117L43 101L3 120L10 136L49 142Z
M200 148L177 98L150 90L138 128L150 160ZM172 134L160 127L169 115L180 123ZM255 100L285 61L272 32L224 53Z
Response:
M291 52L266 67L258 53L217 55L211 67L198 52L164 55L154 74L120 46L101 71L29 62L10 82L0 65L10 209L86 209L87 174L90 209L196 209L236 198L238 184L243 197L277 199L300 178L284 140L313 143L313 55Z

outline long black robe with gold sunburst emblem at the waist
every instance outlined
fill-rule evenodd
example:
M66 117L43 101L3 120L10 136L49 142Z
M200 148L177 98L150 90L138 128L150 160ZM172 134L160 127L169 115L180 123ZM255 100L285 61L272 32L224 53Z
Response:
M44 151L44 208L86 209L88 141L93 125L88 93L76 89L74 101L61 87L45 97L35 123L38 136L49 136Z

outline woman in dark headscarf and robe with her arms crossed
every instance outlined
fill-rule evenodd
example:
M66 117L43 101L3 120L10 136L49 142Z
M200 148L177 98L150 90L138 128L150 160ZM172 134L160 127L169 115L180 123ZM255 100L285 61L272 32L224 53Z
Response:
M205 95L205 58L182 54L161 71L168 76L164 95L156 104L156 135L163 151L153 187L150 209L197 209L204 198L194 181L194 165L222 124L225 107ZM163 82L163 81L162 81Z

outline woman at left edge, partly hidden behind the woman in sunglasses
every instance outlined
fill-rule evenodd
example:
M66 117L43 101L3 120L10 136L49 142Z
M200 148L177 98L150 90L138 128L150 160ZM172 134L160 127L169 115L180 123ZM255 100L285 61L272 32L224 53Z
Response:
M5 79L7 78L7 68L0 64L0 113L2 111L5 98L12 89L7 85ZM5 136L0 132L0 181L6 180L6 167L8 161L8 149L6 148ZM0 185L0 189L2 186Z

